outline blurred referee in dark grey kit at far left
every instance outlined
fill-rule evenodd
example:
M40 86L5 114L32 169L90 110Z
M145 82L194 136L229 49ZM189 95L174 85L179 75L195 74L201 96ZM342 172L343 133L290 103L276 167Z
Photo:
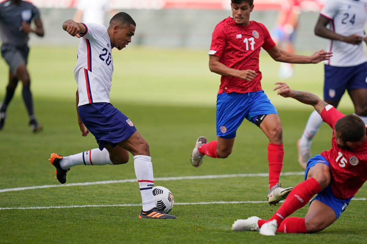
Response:
M35 28L30 26L34 20ZM27 70L29 33L43 37L44 30L39 10L28 1L7 0L0 3L1 56L9 66L9 83L0 104L0 129L4 127L6 110L14 96L18 81L23 84L22 96L29 115L29 125L33 132L43 127L34 116L30 77Z

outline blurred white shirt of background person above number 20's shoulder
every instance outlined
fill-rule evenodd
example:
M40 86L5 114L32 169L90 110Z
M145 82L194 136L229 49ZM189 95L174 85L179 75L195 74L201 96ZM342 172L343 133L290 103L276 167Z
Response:
M112 11L110 0L79 0L77 9L83 11L84 23L105 24L106 14Z

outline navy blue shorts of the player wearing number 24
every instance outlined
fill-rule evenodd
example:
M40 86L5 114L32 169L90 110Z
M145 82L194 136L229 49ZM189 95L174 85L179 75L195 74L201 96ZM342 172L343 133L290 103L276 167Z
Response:
M351 67L324 64L324 99L338 101L345 90L367 89L367 62Z

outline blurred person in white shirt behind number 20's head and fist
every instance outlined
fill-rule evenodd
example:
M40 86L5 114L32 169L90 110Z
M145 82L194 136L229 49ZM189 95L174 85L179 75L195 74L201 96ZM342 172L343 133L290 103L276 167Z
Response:
M111 16L117 14L110 0L79 0L73 20L75 20L75 22L105 25L107 14Z

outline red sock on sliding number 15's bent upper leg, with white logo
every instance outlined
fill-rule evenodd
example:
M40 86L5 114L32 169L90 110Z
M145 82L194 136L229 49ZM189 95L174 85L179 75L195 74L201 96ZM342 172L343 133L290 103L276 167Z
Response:
M280 226L283 219L294 213L297 209L305 206L320 191L320 184L314 178L299 183L289 193L284 203L281 204L280 208L269 221L276 219L278 226Z

